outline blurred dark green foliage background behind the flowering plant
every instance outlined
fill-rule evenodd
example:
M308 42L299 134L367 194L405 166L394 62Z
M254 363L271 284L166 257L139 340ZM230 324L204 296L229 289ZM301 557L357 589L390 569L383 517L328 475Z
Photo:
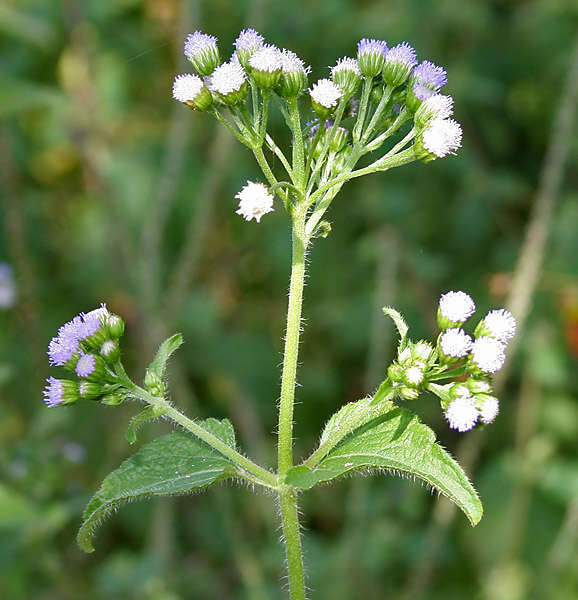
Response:
M393 304L414 339L435 303L465 289L510 301L578 28L575 0L2 0L0 3L0 597L4 600L282 598L277 514L221 487L121 509L97 551L75 545L82 509L134 452L134 405L47 410L46 345L106 301L127 321L138 379L162 338L190 415L229 416L273 465L289 269L281 210L234 214L259 172L207 116L171 99L184 35L245 26L300 54L312 80L361 37L407 40L444 65L464 127L456 157L346 186L310 254L296 455L325 420L379 383ZM276 120L275 120L276 119ZM274 127L287 143L281 120ZM452 600L578 597L578 144L569 144L543 270L485 431L449 431L432 398L413 407L458 453L485 517L475 529L411 481L350 478L303 497L312 597ZM542 256L543 255L543 256ZM538 260L538 262L540 262ZM534 286L532 286L533 288ZM139 443L166 430L149 426ZM454 518L455 517L455 518Z

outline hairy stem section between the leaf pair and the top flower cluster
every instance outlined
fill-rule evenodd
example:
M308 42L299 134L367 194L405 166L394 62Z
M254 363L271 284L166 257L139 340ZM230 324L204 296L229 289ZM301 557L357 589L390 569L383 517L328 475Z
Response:
M291 281L289 284L289 305L287 308L287 328L281 376L281 399L279 403L279 475L283 477L293 466L293 404L295 401L295 377L297 355L301 331L301 307L303 285L305 283L305 237L306 208L297 205L293 215L293 244L291 260Z

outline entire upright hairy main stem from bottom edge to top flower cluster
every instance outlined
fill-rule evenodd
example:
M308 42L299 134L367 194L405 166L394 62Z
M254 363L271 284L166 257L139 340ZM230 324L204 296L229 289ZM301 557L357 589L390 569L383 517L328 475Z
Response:
M305 600L305 576L303 573L301 537L299 535L297 493L294 489L284 486L282 482L287 471L293 466L293 405L295 402L295 377L297 375L301 307L305 283L306 215L307 208L302 203L298 203L293 214L291 281L289 284L289 305L287 308L281 399L279 402L279 505L287 555L291 600Z

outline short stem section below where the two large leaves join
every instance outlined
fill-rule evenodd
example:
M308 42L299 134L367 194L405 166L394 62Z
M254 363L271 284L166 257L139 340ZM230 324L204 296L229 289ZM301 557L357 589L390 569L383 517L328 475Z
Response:
M299 535L297 495L293 490L284 490L279 494L279 504L289 573L289 593L291 600L305 600L305 574L303 572L303 550Z

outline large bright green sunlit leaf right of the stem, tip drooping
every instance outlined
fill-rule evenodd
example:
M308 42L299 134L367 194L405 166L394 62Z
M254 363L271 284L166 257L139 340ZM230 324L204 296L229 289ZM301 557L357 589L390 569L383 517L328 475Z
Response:
M286 483L310 489L350 471L385 469L422 479L452 500L476 525L482 517L482 504L461 467L416 415L389 404L386 414L344 438L316 466L305 463L289 469Z

